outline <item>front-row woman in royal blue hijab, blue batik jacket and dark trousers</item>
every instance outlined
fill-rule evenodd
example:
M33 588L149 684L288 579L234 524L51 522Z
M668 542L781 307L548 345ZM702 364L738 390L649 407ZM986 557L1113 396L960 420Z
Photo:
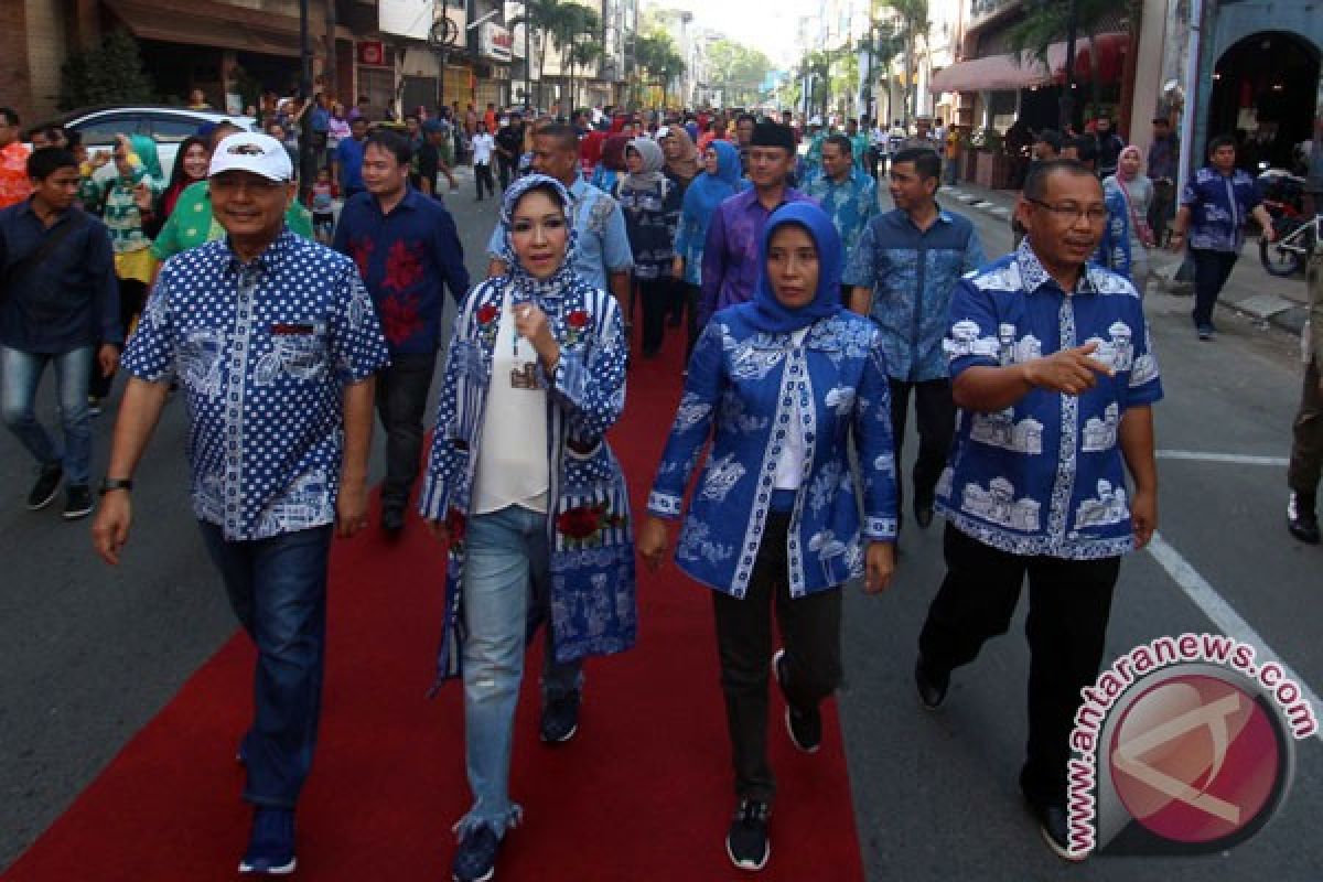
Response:
M744 870L770 856L767 660L791 742L815 752L819 705L841 676L839 588L863 575L878 592L894 567L886 365L877 328L840 307L840 237L816 205L769 218L754 299L713 315L689 361L639 533L655 570L710 436L675 561L712 588L738 800L726 854ZM785 640L775 653L773 608Z

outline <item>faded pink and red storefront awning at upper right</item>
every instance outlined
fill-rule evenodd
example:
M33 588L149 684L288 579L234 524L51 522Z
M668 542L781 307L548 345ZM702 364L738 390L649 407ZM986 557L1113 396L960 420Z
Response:
M1099 82L1117 82L1125 67L1126 52L1130 48L1130 34L1105 33L1094 38L1098 46ZM1054 42L1048 46L1050 73L1037 58L1025 58L1023 63L1013 53L988 56L960 61L933 74L931 89L943 91L1005 91L1033 89L1065 81L1066 45ZM1090 44L1086 38L1076 41L1076 81L1091 78L1093 61Z

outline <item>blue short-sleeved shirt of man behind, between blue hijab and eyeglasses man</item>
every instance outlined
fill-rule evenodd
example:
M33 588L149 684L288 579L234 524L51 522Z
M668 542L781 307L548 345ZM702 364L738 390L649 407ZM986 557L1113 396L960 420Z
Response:
M901 209L864 229L845 264L844 283L873 290L871 316L882 329L892 378L946 377L946 313L960 276L983 263L979 234L966 218L938 212L919 230Z

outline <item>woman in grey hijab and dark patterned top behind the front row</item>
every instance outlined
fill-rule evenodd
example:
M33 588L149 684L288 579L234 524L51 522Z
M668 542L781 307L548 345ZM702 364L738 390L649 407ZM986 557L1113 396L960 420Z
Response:
M615 185L624 231L634 253L634 283L643 300L643 357L662 349L667 313L675 307L675 230L680 223L680 188L662 171L662 148L647 136L624 149L628 175Z

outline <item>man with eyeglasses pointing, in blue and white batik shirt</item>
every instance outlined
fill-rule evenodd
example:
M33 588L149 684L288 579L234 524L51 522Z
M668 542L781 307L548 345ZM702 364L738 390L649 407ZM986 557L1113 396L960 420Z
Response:
M951 299L945 348L962 413L938 481L947 571L914 678L938 707L951 672L1005 633L1028 575L1020 789L1052 850L1081 860L1068 837L1072 721L1098 674L1121 558L1156 526L1150 406L1162 383L1134 286L1088 263L1107 220L1098 179L1040 163L1016 214L1029 231L1020 249Z

